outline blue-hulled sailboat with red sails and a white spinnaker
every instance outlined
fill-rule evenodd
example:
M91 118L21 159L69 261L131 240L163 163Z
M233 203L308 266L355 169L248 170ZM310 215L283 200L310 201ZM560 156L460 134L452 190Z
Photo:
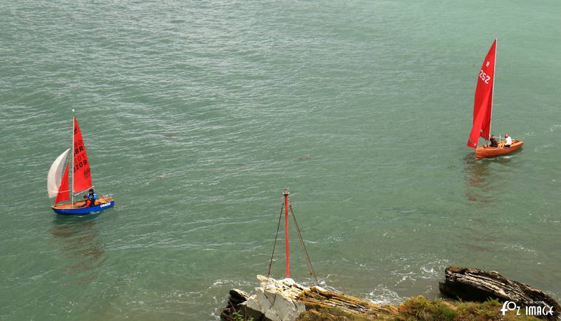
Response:
M86 207L86 201L74 201L74 196L93 188L91 183L91 170L86 146L84 146L82 133L78 126L76 117L73 117L72 128L73 155L66 162L66 156L71 148L61 153L51 165L47 175L47 193L49 198L55 198L51 208L60 215L86 215L92 212L99 212L115 205L115 200L108 196L98 198L95 204ZM70 163L72 163L71 166ZM62 171L64 167L64 173ZM70 172L68 173L68 168ZM68 187L68 177L72 177L72 189ZM65 203L66 202L66 203Z

